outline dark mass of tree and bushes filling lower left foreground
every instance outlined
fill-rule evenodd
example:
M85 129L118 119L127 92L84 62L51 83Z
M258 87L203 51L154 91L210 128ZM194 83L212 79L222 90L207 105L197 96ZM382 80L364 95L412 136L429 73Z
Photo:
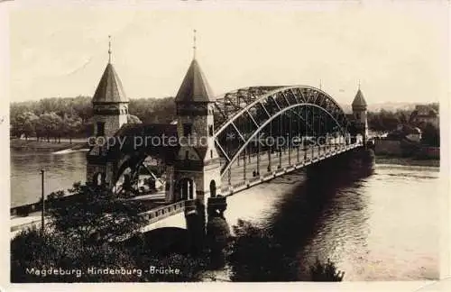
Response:
M12 282L200 279L201 271L207 266L206 258L174 253L162 256L155 254L145 242L133 246L123 242L124 239L143 238L140 229L147 221L141 215L144 209L138 201L116 197L106 187L81 186L80 183L74 184L69 193L73 196L62 197L62 191L52 194L48 201L51 221L45 233L32 228L11 242ZM180 272L169 275L145 273L144 269L151 266L157 269L170 267ZM88 273L90 268L113 269L119 273ZM53 269L76 270L77 273L50 274L49 270ZM42 273L47 275L42 277Z

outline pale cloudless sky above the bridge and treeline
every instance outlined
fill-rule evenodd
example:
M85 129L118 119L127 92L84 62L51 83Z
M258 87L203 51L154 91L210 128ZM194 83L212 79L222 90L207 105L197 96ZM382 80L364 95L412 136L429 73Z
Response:
M351 104L428 103L448 90L448 5L326 1L18 6L9 14L10 101L92 96L108 60L130 98L175 96L193 56L214 95L308 85Z

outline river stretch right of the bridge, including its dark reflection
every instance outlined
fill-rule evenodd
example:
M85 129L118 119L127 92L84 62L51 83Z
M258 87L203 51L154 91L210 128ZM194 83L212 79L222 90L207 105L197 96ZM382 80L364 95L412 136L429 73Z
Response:
M278 269L277 280L308 280L317 257L333 260L345 280L438 277L438 169L356 165L324 164L308 169L292 188L283 188L281 179L272 181L272 192L260 188L260 199L271 194L272 203L261 205L254 222L282 247L271 251L276 256L262 255L272 259L262 266Z

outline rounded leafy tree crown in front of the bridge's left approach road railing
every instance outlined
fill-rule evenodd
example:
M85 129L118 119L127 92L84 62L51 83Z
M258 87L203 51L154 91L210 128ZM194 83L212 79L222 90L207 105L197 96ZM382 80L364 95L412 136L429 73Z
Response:
M70 203L50 202L51 227L81 242L109 242L132 237L147 224L142 215L144 205L126 200L104 186L82 186L69 189Z

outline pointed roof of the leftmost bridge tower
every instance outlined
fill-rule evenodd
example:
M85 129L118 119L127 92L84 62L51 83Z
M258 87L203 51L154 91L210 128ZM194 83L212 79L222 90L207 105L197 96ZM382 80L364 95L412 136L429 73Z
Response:
M111 63L106 65L104 74L100 78L96 93L92 98L94 104L98 103L128 103L122 87L121 79L117 76L115 68Z

